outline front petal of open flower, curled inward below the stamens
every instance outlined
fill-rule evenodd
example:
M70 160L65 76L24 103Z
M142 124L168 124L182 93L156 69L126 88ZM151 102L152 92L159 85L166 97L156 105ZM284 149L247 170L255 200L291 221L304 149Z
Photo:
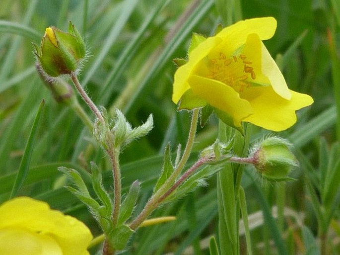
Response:
M228 113L233 118L235 126L239 127L241 121L253 113L250 103L241 99L228 85L196 75L190 77L189 83L195 94L213 107Z

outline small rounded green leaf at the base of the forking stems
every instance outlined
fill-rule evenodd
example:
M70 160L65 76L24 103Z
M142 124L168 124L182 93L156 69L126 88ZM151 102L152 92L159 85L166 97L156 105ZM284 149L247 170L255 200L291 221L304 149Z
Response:
M126 225L114 228L107 236L109 243L114 250L123 250L134 231Z

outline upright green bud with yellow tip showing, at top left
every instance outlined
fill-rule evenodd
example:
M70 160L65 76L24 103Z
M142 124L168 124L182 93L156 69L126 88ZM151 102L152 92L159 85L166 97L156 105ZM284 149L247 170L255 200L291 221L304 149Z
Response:
M68 33L54 26L48 27L40 48L33 45L40 66L51 77L75 72L81 67L81 61L86 55L85 43L71 22Z

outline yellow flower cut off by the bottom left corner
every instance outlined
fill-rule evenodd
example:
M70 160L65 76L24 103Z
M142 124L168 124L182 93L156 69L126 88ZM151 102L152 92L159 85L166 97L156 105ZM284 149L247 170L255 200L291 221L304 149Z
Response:
M0 206L0 254L88 255L89 229L51 210L45 202L18 197Z

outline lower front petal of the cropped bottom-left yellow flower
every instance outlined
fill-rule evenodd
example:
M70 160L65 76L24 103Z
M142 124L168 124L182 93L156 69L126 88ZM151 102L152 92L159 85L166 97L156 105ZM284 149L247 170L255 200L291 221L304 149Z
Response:
M63 255L52 238L22 229L0 229L1 255Z

